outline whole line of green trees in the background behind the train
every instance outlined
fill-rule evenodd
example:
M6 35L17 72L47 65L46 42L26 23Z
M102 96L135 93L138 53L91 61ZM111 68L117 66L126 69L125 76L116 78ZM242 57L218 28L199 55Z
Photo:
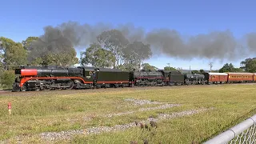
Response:
M74 47L65 49L58 46L54 50L51 45L45 54L34 54L39 49L34 42L42 42L39 37L28 37L22 42L14 42L10 38L0 37L0 85L10 87L14 82L14 69L22 65L56 65L73 66L98 66L105 68L116 68L122 70L157 70L156 66L143 63L152 56L150 45L143 42L130 42L119 30L107 30L97 36L97 41L93 42L81 52L80 59L76 58ZM48 45L44 45L48 46ZM41 49L43 47L40 47ZM171 66L164 67L164 70L182 70ZM234 68L232 63L226 63L218 72L256 72L256 58L246 58L241 62L241 67ZM192 71L202 74L204 70ZM216 71L217 72L217 71Z

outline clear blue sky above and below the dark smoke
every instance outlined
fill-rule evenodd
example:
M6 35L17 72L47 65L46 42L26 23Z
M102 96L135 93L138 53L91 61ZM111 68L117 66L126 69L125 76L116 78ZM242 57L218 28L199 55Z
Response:
M170 28L185 35L229 29L236 38L242 38L256 31L255 6L255 0L2 0L0 36L22 42L28 36L42 35L44 26L75 21L91 25L132 22L145 30ZM233 62L234 66L239 66L241 60ZM170 63L182 69L209 69L207 59L182 61L154 56L146 62L158 68ZM224 63L214 62L213 69Z

